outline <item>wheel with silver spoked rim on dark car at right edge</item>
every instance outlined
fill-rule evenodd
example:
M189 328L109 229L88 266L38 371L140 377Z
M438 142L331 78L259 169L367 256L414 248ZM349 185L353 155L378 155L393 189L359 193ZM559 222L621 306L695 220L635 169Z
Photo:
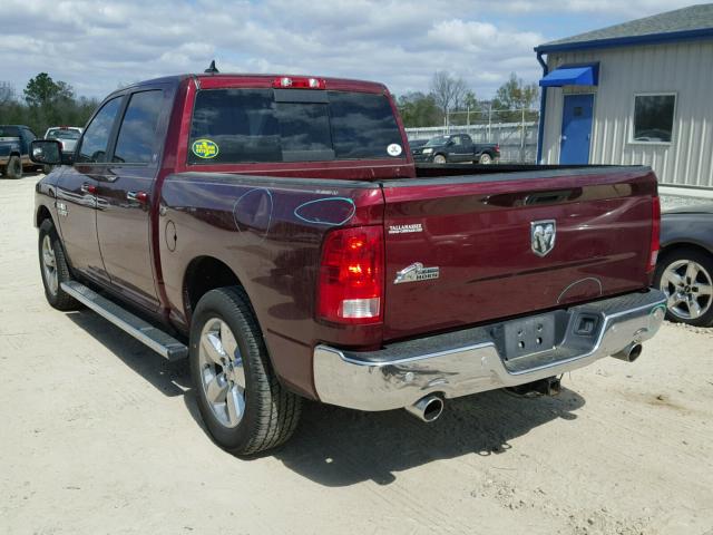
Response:
M668 298L667 320L713 325L713 255L695 249L663 254L656 264L654 286Z

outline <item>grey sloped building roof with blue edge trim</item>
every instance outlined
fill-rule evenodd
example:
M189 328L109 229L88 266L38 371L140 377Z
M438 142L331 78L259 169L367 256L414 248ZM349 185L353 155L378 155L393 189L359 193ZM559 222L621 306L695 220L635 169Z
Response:
M713 3L701 3L665 13L549 41L537 52L651 45L686 39L713 39Z

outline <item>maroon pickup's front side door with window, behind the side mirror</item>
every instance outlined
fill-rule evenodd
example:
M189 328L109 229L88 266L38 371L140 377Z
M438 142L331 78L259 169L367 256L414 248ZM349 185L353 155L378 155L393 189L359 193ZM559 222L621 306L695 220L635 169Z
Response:
M71 266L86 276L108 281L97 242L97 183L106 171L109 140L123 97L107 100L84 133L75 164L57 185L58 224Z

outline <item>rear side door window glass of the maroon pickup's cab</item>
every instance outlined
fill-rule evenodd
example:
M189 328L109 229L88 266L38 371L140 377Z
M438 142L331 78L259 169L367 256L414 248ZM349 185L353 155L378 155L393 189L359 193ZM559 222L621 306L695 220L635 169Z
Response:
M131 95L116 142L113 162L148 164L158 159L158 118L163 93Z

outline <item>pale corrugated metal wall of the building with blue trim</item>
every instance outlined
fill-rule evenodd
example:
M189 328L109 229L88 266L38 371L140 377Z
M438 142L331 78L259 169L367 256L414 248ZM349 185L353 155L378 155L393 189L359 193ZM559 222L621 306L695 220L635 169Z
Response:
M651 165L662 184L713 188L713 41L556 52L565 64L599 61L599 86L550 88L543 159L559 162L563 94L595 93L589 163ZM676 93L672 143L631 143L634 94Z

